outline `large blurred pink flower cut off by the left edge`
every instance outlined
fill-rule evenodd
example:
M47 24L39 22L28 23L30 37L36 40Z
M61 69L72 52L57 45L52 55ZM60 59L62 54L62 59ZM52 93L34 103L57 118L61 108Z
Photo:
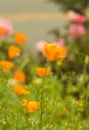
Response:
M4 30L3 35L9 35L12 32L12 24L8 20L0 18L0 28Z

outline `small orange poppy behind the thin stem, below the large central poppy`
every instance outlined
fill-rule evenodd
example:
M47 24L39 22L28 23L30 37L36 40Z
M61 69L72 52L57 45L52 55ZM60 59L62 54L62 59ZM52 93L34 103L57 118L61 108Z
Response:
M42 68L42 67L37 68L37 73L40 77L48 76L50 72L51 68Z

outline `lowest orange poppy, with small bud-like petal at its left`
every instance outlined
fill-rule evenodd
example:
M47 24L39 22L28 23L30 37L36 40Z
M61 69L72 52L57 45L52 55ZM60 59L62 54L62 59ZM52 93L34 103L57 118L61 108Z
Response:
M40 103L37 101L27 101L23 99L23 106L28 110L28 112L35 112L40 107Z

